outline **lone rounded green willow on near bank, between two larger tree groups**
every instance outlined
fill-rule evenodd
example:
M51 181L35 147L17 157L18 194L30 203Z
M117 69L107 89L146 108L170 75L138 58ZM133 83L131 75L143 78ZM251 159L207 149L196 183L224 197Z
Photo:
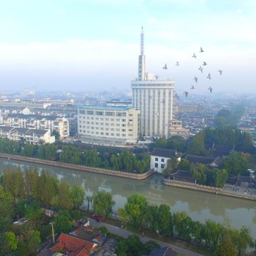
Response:
M94 214L109 217L112 214L112 208L115 202L112 194L105 190L94 193L93 196L93 208Z

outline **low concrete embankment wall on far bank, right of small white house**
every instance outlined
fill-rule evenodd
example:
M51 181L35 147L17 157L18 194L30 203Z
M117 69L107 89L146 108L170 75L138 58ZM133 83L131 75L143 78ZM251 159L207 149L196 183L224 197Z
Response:
M216 194L216 195L226 195L228 197L238 197L238 198L242 198L242 199L256 201L255 196L227 192L227 191L225 191L225 187L223 189L218 188L218 187L208 187L208 186L199 185L199 184L189 184L188 182L183 182L183 181L168 180L167 178L164 178L163 184L165 184L167 186L171 186L171 187L180 187L183 189L192 189L192 190L208 192L208 193L212 193L212 194Z

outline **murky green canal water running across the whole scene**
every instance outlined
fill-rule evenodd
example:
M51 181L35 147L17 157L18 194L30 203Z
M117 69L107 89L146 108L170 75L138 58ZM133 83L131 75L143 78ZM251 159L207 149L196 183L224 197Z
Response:
M252 236L256 238L256 202L252 200L167 187L162 184L162 176L157 174L143 181L135 181L7 159L0 159L0 174L8 165L20 166L22 170L34 167L37 167L39 171L47 170L51 175L67 181L69 185L82 186L86 195L92 195L101 189L111 192L116 202L114 211L124 206L129 195L140 193L147 198L149 203L158 205L165 203L170 206L171 211L186 211L192 219L200 222L212 219L229 224L231 227L241 228L244 225L250 228Z

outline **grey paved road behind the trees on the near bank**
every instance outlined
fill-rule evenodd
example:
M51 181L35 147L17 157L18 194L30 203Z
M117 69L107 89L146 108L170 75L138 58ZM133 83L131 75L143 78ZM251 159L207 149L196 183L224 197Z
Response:
M96 222L94 219L90 219L90 225L94 226L94 227L101 227L101 226L105 226L108 228L108 231L110 233L113 233L113 234L116 234L118 236L123 236L125 238L127 238L128 236L131 236L131 235L134 235L135 233L133 232L130 232L128 230L124 230L122 229L121 227L116 227L114 225L110 225L108 223L105 223L105 222ZM138 235L138 234L136 234ZM149 241L149 240L154 240L154 241L157 241L158 244L160 244L160 246L164 247L164 246L171 246L173 247L173 249L176 250L176 252L178 253L181 253L183 255L188 255L188 256L203 256L203 255L200 255L199 253L197 252L192 252L192 251L189 251L187 249L183 249L181 247L178 247L178 246L175 246L175 245L172 245L172 244L167 244L165 242L162 242L162 241L158 241L158 240L155 240L153 238L148 238L147 236L140 236L140 240L143 241L143 243L146 243L146 241Z

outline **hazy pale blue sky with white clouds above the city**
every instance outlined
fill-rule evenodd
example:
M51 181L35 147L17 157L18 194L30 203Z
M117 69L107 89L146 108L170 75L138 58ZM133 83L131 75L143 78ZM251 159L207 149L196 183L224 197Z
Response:
M143 25L146 71L176 79L177 91L255 92L255 17L255 0L1 1L0 91L128 91Z

